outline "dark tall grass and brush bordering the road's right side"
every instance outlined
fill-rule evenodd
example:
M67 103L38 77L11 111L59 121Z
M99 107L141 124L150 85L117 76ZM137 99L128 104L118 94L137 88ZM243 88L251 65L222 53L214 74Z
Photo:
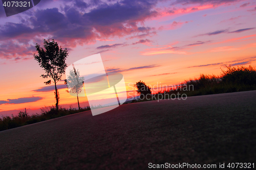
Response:
M186 94L186 96L207 95L227 92L238 92L256 90L256 69L252 66L230 67L221 70L220 76L201 74L198 78L185 80L184 83L175 88L158 91L153 100L165 95L164 99L170 98L172 94ZM191 88L189 88L191 87ZM161 95L160 95L161 94ZM174 96L174 95L173 95ZM147 100L143 100L147 101Z

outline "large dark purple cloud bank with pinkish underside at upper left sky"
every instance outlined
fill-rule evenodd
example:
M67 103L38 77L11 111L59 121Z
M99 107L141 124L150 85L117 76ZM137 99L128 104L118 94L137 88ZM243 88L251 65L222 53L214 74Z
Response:
M29 14L26 13L28 15L26 19L20 19L20 23L6 22L5 25L0 26L0 41L6 42L15 38L19 44L17 48L24 50L24 47L30 46L20 46L20 44L27 44L35 40L38 35L53 38L61 46L70 48L78 43L95 41L96 38L107 39L110 36L138 33L144 33L137 35L138 37L153 36L156 34L154 28L138 27L137 24L158 15L154 10L157 2L157 0L123 0L107 4L101 1L75 0L72 5L66 5L61 10L51 8L30 11ZM38 6L45 4L46 2L41 2ZM92 8L92 5L95 7ZM86 13L81 12L88 7L91 10Z

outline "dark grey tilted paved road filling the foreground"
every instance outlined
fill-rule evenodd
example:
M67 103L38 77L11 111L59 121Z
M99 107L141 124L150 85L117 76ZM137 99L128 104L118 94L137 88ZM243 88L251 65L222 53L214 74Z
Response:
M0 132L0 169L256 165L256 91L121 105Z

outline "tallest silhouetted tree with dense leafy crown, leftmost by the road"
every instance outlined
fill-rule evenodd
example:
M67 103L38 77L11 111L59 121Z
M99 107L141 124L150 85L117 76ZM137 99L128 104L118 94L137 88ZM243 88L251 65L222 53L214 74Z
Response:
M68 57L67 48L62 50L61 46L57 42L44 39L44 48L40 47L36 43L36 51L38 54L34 54L35 60L39 63L40 67L44 68L46 75L41 75L42 78L52 78L55 85L55 99L56 110L58 111L59 92L56 87L56 83L61 80L62 74L65 72L66 58ZM45 84L51 84L51 80L44 82Z

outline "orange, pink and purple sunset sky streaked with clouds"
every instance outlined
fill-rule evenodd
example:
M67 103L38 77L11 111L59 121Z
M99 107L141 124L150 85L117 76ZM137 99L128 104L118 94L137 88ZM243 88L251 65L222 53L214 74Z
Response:
M9 17L1 6L0 116L55 105L53 84L44 84L33 57L44 38L68 49L68 65L100 53L106 72L120 72L131 91L140 80L175 85L220 75L225 65L255 67L255 23L256 1L42 0ZM63 81L57 85L59 104L77 107Z

